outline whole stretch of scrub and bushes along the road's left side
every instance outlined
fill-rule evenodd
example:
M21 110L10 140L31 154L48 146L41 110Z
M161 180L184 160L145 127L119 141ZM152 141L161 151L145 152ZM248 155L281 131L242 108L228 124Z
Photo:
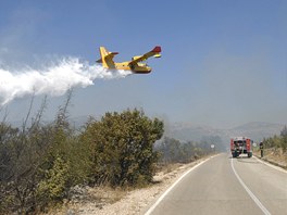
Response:
M145 187L159 164L210 153L195 142L162 139L163 122L137 109L90 118L76 130L67 121L71 98L72 91L49 124L42 124L46 98L35 116L30 102L22 127L5 117L0 123L0 214L47 212L76 185Z

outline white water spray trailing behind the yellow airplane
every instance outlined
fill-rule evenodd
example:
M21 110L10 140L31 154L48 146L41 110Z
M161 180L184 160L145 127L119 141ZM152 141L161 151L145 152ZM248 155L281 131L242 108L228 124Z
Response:
M129 71L109 71L78 59L64 59L42 69L24 68L17 73L0 67L0 106L27 94L62 96L70 88L93 85L97 78L123 78Z

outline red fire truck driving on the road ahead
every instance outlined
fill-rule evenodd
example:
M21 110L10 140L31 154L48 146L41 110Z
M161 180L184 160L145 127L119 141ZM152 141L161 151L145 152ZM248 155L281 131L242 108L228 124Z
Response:
M235 137L230 139L230 151L233 157L237 157L240 154L247 154L248 157L252 156L252 143L253 140L247 137Z

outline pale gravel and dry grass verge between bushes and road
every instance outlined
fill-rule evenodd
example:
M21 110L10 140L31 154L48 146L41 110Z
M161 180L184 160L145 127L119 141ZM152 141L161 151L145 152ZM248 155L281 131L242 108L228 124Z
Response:
M186 170L209 157L202 157L189 164L177 164L170 167L170 169L159 172L154 176L154 184L147 188L130 191L112 190L110 188L85 188L83 191L83 188L80 188L82 193L74 200L66 202L61 212L57 214L145 214L155 200Z

